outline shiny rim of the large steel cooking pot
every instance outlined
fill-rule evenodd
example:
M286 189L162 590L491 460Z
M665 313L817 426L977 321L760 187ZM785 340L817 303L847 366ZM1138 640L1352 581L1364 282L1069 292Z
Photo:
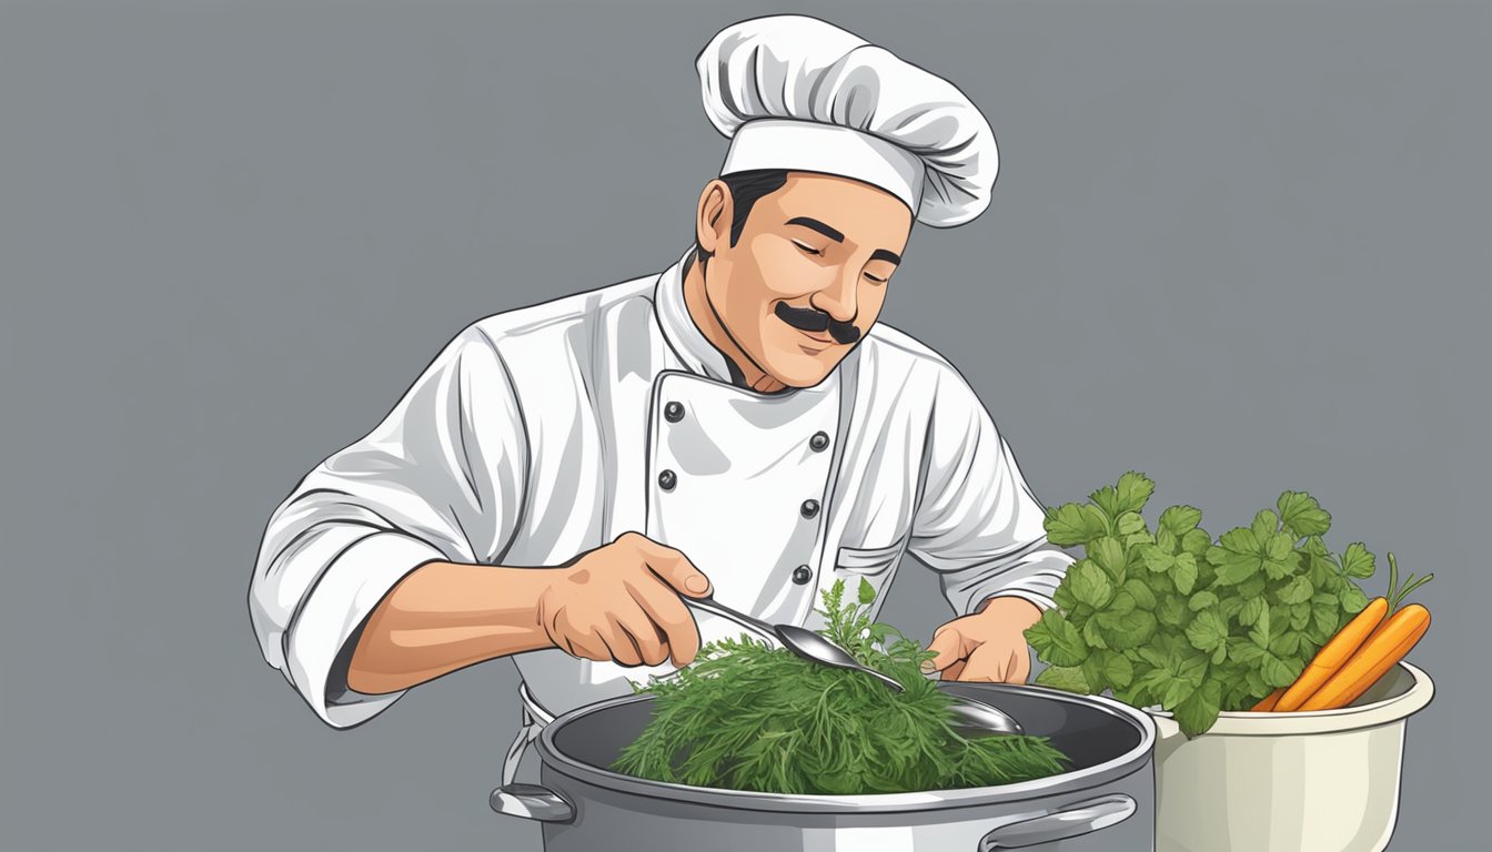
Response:
M958 686L973 685L952 683ZM1043 698L1098 709L1138 728L1140 742L1132 749L1098 765L1021 783L867 795L795 795L648 780L589 765L562 754L555 746L555 731L560 731L564 725L607 707L651 700L651 695L646 694L609 698L570 710L543 727L537 746L545 768L558 771L580 783L673 803L686 801L691 804L731 807L737 810L767 810L773 813L901 813L1022 801L1095 788L1150 765L1156 742L1156 727L1155 719L1143 710L1101 695L1076 695L1046 686L1009 683L979 683L979 686L994 691L1038 692Z

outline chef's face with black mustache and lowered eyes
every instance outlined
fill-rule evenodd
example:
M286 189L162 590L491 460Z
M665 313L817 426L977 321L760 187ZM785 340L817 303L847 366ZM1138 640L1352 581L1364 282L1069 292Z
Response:
M733 215L730 188L712 181L697 228L712 310L762 373L819 383L880 315L912 210L868 184L791 172L756 200L739 240Z

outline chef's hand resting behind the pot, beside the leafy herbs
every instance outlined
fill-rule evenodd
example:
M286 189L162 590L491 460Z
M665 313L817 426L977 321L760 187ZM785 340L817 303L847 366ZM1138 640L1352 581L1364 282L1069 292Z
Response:
M927 671L941 671L943 680L1025 683L1031 674L1025 628L1040 618L1041 609L1025 598L992 597L974 615L932 633L928 651L937 657Z

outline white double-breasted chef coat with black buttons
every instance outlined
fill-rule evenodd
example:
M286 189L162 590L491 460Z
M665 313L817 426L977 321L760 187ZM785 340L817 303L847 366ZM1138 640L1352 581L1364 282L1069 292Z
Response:
M821 589L883 591L906 552L958 615L997 594L1052 606L1071 557L1046 542L1041 504L946 360L876 324L812 388L737 386L685 309L685 269L470 325L275 510L251 615L266 660L325 722L361 724L403 695L349 691L346 660L379 600L433 560L557 566L634 530L770 622L822 625ZM706 642L740 633L697 622ZM668 671L558 649L513 660L551 713Z

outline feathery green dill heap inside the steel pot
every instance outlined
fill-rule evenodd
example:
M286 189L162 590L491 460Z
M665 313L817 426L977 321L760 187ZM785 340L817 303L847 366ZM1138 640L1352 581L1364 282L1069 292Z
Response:
M637 689L653 695L653 718L612 768L691 786L828 795L989 786L1064 770L1065 757L1044 737L961 736L953 697L922 674L932 654L870 619L874 594L861 580L858 603L846 601L837 580L822 592L819 633L904 692L747 636L712 642L677 677Z

